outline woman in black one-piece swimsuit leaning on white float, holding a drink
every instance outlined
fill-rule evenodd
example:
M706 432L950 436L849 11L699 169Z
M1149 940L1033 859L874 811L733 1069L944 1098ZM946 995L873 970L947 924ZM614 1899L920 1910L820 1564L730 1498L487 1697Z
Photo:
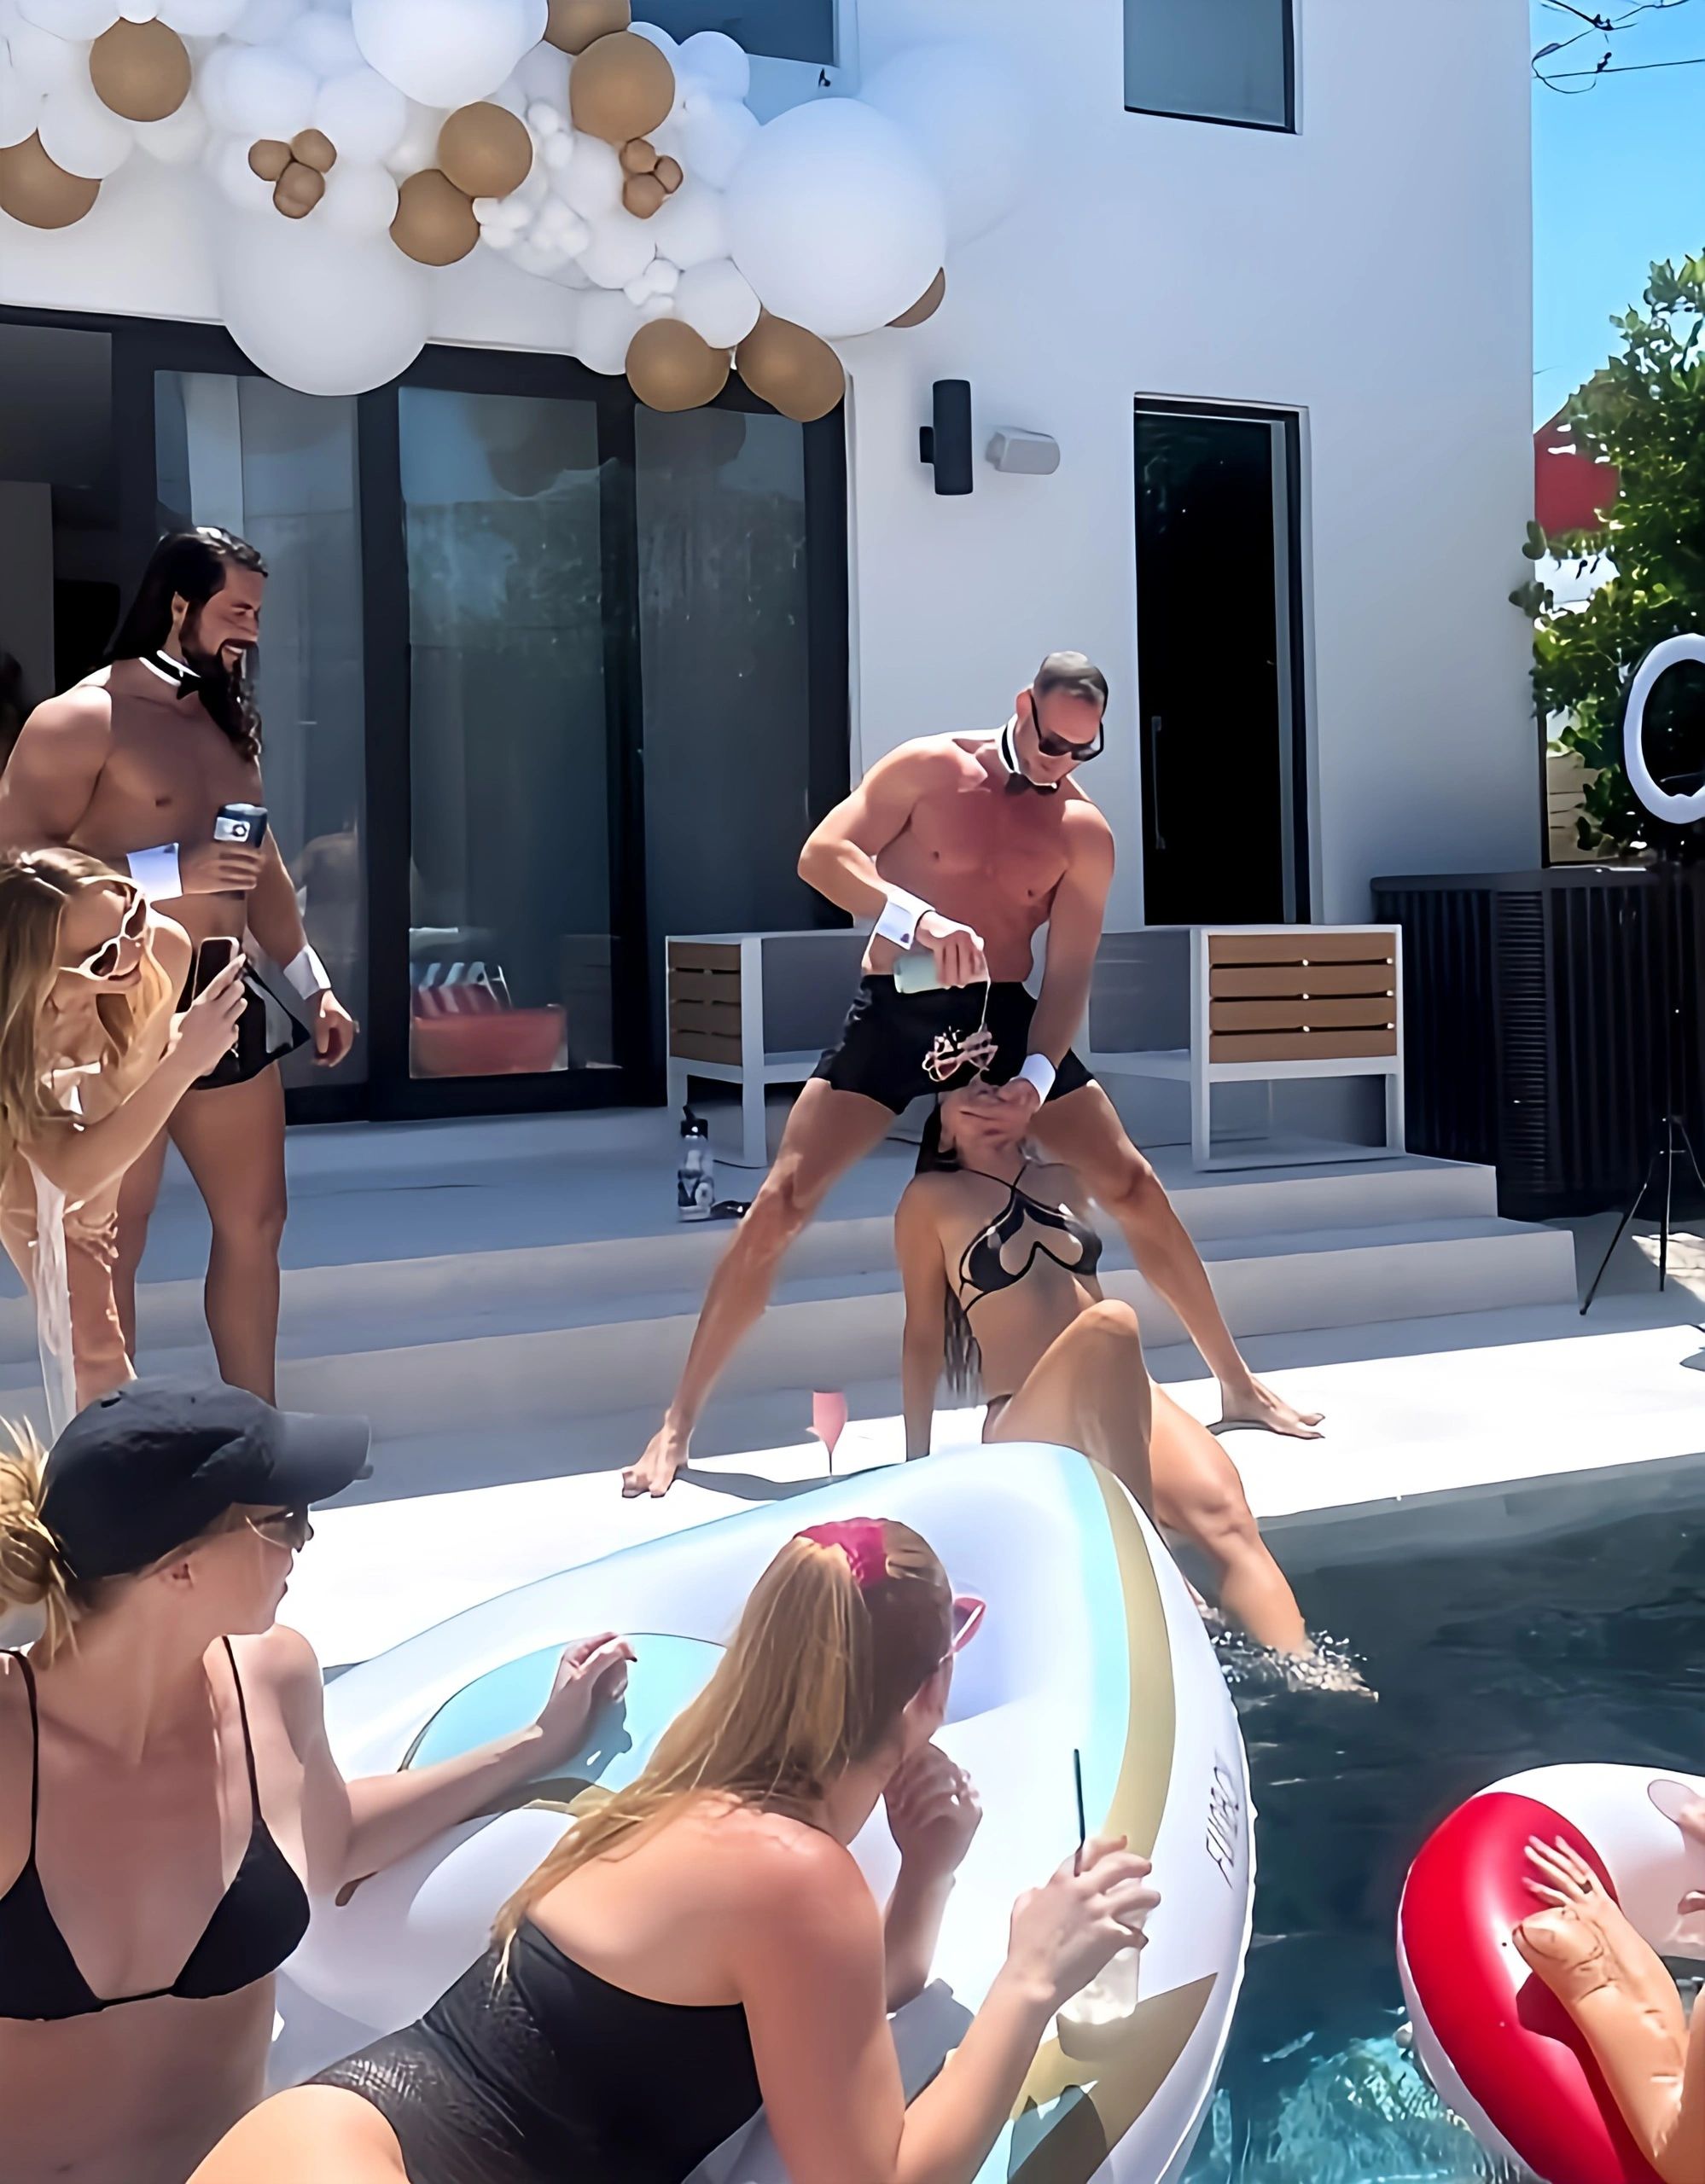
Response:
M783 1546L634 1782L584 1813L418 2025L247 2116L192 2184L682 2184L765 2108L791 2184L971 2184L1060 2003L1159 1902L1091 1841L905 2101L887 2009L929 1979L979 1808L933 1745L981 1601L907 1524ZM885 1804L879 1907L850 1843Z

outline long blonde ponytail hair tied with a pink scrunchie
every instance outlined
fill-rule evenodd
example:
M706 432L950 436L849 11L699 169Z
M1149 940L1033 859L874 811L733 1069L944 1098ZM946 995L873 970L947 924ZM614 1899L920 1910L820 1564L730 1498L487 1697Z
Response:
M866 1570L863 1583L846 1548L804 1533L787 1542L752 1588L710 1682L636 1780L586 1811L516 1889L496 1920L501 1942L562 1878L691 1797L804 1815L896 1736L946 1658L953 1594L909 1524L881 1520L879 1531L881 1572Z

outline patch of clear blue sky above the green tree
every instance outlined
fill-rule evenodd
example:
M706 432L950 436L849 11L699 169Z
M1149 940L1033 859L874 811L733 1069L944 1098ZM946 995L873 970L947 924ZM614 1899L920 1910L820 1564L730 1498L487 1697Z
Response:
M1580 0L1583 13L1633 15L1635 0ZM1532 44L1587 26L1530 0ZM1635 63L1705 57L1705 0L1633 15L1611 39L1626 74L1569 79L1563 96L1534 83L1534 424L1611 352L1607 319L1639 299L1653 258L1705 251L1705 66ZM1587 35L1541 66L1591 68Z

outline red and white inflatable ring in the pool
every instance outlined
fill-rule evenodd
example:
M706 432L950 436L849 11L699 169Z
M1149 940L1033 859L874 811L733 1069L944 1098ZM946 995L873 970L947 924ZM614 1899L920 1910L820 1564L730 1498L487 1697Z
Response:
M1705 1778L1648 1767L1537 1767L1469 1797L1423 1845L1397 1911L1414 2051L1475 2138L1543 2184L1661 2184L1585 2038L1513 1933L1539 1911L1528 1839L1565 1841L1663 1957L1703 1955L1677 1902L1705 1850L1674 1824Z

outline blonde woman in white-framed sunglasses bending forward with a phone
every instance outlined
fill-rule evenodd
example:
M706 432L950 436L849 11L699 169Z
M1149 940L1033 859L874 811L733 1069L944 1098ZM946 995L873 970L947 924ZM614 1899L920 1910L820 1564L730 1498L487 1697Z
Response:
M0 856L0 1243L35 1297L55 1433L131 1376L118 1186L236 1033L240 961L179 1018L188 970L133 880L79 850Z

